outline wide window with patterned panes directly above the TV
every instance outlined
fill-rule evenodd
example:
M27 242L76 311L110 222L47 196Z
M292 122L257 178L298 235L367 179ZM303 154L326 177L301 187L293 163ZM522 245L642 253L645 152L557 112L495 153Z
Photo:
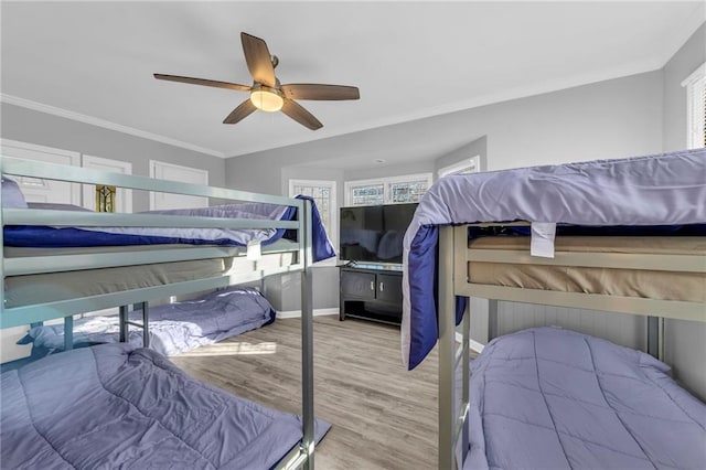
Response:
M431 185L431 173L345 182L345 205L418 202Z

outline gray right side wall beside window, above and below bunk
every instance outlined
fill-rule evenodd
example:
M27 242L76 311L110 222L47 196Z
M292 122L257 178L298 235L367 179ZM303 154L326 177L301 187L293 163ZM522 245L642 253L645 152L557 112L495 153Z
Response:
M664 150L686 147L686 88L684 78L706 62L706 24L664 66ZM706 178L706 175L704 175ZM706 307L705 307L706 309ZM665 360L674 376L706 400L706 323L667 320Z

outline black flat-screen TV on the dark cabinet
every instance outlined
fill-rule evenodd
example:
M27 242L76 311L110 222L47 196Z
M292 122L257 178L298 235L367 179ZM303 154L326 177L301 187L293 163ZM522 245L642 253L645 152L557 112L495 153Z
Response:
M417 203L341 207L340 259L402 264L403 238Z

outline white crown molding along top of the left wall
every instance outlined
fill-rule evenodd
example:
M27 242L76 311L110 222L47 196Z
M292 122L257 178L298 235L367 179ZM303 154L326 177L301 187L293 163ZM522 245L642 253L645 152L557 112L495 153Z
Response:
M161 143L167 143L168 146L180 147L186 150L193 150L195 152L210 154L218 158L226 158L226 156L213 149L207 149L204 147L194 146L193 143L183 142L181 140L172 139L169 137L160 136L158 133L147 132L145 130L135 129L132 127L122 126L120 124L110 122L108 120L99 119L93 116L82 115L79 113L69 111L67 109L57 108L50 105L44 105L42 103L32 102L30 99L19 98L17 96L8 95L4 93L0 93L0 102L7 103L9 105L20 106L23 108L32 109L35 111L44 113L47 115L58 116L66 119L89 124L92 126L103 127L104 129L115 130L117 132L128 133L130 136L141 137L143 139L153 140Z

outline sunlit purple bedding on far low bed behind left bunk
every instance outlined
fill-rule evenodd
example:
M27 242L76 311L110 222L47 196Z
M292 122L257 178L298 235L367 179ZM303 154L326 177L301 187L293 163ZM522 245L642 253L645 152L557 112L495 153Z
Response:
M254 288L231 287L194 300L149 309L150 348L172 355L213 344L275 321L276 312L267 299ZM130 313L140 323L142 312ZM74 322L74 345L117 343L120 323L117 316L86 317ZM64 325L32 328L20 344L34 343L46 353L64 349ZM128 342L142 346L142 330L129 328Z

